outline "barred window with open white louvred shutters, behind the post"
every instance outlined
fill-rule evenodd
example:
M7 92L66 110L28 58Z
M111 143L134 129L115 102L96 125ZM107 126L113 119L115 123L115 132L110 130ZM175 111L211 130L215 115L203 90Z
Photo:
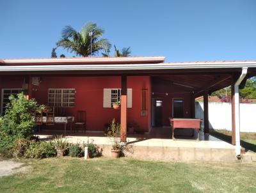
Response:
M120 88L104 88L103 90L103 107L111 108L114 102L121 100ZM132 89L127 89L127 108L132 108Z

